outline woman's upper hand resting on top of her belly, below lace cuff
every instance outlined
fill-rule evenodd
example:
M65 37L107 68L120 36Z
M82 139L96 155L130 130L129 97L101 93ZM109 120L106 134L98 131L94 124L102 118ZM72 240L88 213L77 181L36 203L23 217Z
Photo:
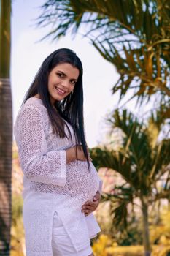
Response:
M77 147L77 158L76 158L76 147ZM88 150L88 148L87 148L87 150ZM80 161L87 161L85 154L82 150L82 146L80 146L80 145L74 146L74 147L66 150L66 162L67 163L75 161L76 159L80 160ZM90 158L89 152L88 152L88 159L89 159L89 161L92 160Z

